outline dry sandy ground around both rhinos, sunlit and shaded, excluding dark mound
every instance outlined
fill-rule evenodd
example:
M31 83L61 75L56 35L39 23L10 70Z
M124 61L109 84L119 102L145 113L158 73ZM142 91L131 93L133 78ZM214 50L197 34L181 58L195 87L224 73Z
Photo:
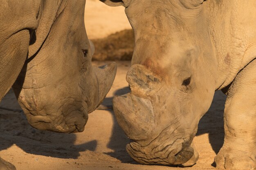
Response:
M87 0L85 25L90 39L106 38L129 29L122 7L110 8ZM110 28L109 28L109 27ZM96 47L97 50L97 47ZM93 62L102 65L107 62ZM213 159L224 140L225 95L217 91L213 104L202 117L194 138L200 154L191 168L140 165L125 150L129 139L119 128L112 97L128 92L125 80L129 61L118 61L117 76L100 109L89 115L84 132L62 134L32 128L20 110L12 91L0 103L0 156L17 170L213 170Z

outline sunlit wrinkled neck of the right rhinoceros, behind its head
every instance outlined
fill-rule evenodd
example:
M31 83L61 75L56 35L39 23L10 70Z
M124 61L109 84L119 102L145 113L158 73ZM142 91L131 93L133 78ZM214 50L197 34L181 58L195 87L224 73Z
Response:
M216 89L221 89L256 58L256 1L208 0L204 5L218 60Z

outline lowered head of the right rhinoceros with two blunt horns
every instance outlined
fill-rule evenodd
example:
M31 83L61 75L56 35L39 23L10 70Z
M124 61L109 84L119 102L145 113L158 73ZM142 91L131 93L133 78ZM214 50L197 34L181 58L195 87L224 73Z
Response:
M131 91L113 102L132 139L126 149L141 163L181 164L193 156L191 142L216 89L217 62L202 2L123 1L135 32L126 77Z

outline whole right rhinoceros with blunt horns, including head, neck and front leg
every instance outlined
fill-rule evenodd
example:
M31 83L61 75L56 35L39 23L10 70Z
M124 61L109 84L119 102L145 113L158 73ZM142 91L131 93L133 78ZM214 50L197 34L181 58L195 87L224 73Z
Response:
M131 92L114 98L117 121L141 163L198 159L191 145L213 94L227 94L217 168L256 168L256 1L101 0L123 5L135 32Z

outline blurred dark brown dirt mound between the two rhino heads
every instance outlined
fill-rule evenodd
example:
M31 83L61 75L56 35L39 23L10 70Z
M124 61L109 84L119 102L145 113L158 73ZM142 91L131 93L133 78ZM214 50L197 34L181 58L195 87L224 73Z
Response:
M134 49L132 29L120 31L106 38L92 40L95 53L92 60L131 60Z

